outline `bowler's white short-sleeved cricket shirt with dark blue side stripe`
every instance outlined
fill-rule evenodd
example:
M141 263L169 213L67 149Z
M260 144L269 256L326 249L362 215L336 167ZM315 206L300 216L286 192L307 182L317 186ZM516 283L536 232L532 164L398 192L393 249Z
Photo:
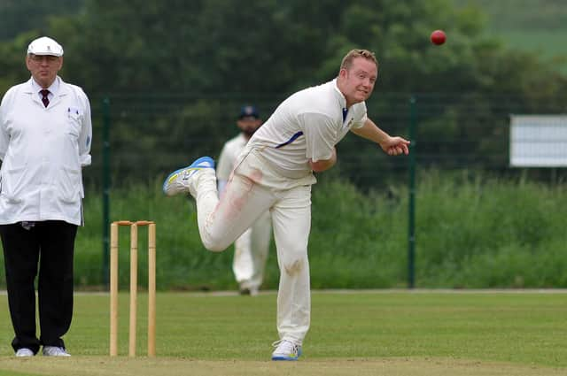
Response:
M291 179L311 173L309 159L329 159L334 146L368 119L364 102L347 109L337 80L303 89L280 104L252 135L248 148L260 150L276 171Z

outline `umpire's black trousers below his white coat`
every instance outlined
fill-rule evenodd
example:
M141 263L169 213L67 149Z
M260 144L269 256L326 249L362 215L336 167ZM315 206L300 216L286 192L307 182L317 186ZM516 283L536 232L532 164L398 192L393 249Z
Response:
M15 337L12 348L37 353L41 345L65 347L61 337L73 317L73 256L77 226L47 220L1 225L6 288ZM35 277L40 338L35 328Z

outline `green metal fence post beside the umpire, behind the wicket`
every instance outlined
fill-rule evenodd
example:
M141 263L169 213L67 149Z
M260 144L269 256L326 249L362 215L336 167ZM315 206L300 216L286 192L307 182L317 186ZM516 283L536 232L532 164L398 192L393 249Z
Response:
M108 286L110 257L110 98L103 100L103 265L102 280Z

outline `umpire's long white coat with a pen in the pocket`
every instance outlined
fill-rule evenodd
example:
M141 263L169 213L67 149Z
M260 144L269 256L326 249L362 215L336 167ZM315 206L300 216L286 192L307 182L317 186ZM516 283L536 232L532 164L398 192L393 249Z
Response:
M91 161L89 98L82 88L56 81L47 108L33 79L10 88L0 104L0 224L82 225L82 166Z

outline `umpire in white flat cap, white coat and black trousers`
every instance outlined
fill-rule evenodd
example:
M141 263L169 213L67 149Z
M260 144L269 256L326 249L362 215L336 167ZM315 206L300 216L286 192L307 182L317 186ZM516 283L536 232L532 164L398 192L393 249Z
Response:
M63 48L48 37L27 48L31 78L0 104L0 236L16 357L68 357L73 257L83 225L82 167L90 165L89 98L58 76ZM40 337L35 328L35 277Z

